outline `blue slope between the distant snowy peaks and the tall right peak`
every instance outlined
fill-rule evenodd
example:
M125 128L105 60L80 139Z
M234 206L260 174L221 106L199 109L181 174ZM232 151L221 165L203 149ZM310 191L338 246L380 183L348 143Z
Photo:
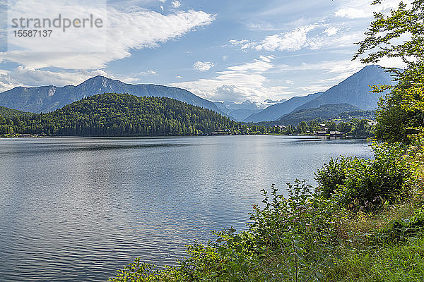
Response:
M312 101L313 99L319 97L321 94L322 92L318 92L315 94L309 94L307 96L293 97L281 104L273 104L257 114L248 116L244 121L254 123L260 121L276 121L278 118L281 118L281 116L292 112L298 106L302 106L302 104Z

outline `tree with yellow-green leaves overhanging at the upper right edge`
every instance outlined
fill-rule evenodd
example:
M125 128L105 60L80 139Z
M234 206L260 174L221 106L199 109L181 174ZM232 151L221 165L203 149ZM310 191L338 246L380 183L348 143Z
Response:
M384 0L376 0L374 5ZM400 58L406 63L402 71L386 68L397 85L374 85L373 92L390 90L379 101L376 137L389 142L411 142L424 133L424 0L407 6L400 3L385 16L375 13L366 38L353 57L363 63L377 63L383 58ZM402 40L407 38L406 40ZM399 43L401 42L401 43Z

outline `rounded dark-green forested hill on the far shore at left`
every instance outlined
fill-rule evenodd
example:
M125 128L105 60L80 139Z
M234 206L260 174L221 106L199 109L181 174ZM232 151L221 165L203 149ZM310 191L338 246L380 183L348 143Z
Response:
M214 111L166 97L98 94L49 114L0 116L0 134L148 136L209 134L237 124ZM3 132L2 132L3 131Z

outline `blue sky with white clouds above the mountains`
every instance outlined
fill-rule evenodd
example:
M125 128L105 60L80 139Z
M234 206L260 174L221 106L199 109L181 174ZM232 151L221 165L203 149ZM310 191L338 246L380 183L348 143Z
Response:
M42 2L43 4L40 4ZM399 1L0 0L11 17L77 13L101 29L14 42L0 35L0 91L78 85L95 75L182 87L211 101L263 102L324 91L363 68L351 61L372 20ZM80 2L80 3L78 3ZM71 3L71 4L69 4ZM68 14L67 14L68 13ZM6 16L7 15L7 16ZM7 19L7 20L6 20ZM66 35L66 36L62 36ZM8 38L8 40L6 40ZM382 66L401 68L399 61Z

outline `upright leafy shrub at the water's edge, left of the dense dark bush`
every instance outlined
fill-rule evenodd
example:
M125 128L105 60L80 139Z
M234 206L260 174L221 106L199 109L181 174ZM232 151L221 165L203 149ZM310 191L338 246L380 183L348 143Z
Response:
M278 281L320 280L336 259L337 207L311 188L295 180L288 184L288 197L273 188L271 199L263 190L264 208L254 207L249 232L266 257L281 262L273 269Z

